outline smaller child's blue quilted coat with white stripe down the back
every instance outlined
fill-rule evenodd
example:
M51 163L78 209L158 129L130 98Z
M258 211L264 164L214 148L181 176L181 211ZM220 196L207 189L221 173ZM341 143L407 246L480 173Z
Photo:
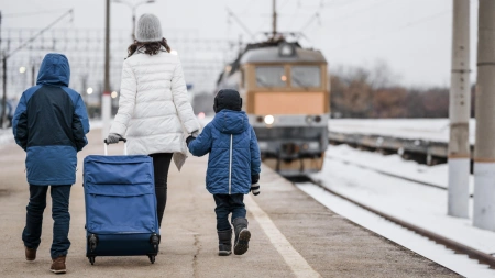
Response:
M206 182L212 194L248 194L251 175L260 174L260 148L244 111L221 110L189 143L189 152L210 153Z

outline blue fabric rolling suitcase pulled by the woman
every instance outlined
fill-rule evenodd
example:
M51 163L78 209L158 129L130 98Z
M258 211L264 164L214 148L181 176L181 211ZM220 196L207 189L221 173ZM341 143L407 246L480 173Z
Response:
M160 229L153 160L146 155L89 155L84 163L86 256L158 254Z

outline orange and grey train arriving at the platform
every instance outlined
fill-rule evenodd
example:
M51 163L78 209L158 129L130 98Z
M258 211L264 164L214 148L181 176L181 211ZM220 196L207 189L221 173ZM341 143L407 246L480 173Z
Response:
M284 176L321 170L330 115L321 52L284 36L249 44L226 66L217 86L241 93L266 165Z

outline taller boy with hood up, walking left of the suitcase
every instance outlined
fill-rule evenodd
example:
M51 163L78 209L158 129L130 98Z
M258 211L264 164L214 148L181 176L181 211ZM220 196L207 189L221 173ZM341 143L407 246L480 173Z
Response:
M68 88L70 67L62 54L51 53L40 66L36 86L22 93L12 121L15 142L26 152L30 185L26 223L22 232L25 259L34 260L41 243L46 193L52 196L52 273L65 274L70 241L69 197L76 182L77 152L89 132L85 103Z

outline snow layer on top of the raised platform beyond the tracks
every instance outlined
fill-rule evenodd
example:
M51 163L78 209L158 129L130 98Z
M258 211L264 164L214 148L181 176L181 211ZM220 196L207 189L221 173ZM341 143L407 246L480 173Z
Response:
M475 125L475 120L471 119L471 144L474 144ZM330 131L340 133L449 141L449 119L330 119L328 126Z

